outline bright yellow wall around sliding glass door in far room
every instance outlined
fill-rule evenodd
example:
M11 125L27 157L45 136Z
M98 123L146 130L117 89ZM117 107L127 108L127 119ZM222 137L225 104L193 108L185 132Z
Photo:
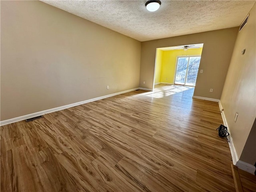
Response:
M183 49L163 51L160 82L174 84L177 56L201 55L201 53L202 48L188 49L186 51Z

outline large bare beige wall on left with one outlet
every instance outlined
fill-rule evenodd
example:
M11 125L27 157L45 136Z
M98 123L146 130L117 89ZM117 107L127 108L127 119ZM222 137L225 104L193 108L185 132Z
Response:
M1 1L1 120L137 88L140 48L43 2Z

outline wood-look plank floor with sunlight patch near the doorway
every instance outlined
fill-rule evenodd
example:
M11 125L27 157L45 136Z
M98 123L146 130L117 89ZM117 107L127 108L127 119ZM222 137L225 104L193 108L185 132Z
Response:
M160 84L1 126L1 192L233 192L218 103Z

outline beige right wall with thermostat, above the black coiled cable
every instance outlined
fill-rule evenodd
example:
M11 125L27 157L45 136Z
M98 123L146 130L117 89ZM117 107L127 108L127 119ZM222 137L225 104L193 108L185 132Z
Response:
M245 54L241 52L246 49ZM238 33L221 96L238 158L256 118L256 5L246 26ZM234 122L234 116L238 118Z

